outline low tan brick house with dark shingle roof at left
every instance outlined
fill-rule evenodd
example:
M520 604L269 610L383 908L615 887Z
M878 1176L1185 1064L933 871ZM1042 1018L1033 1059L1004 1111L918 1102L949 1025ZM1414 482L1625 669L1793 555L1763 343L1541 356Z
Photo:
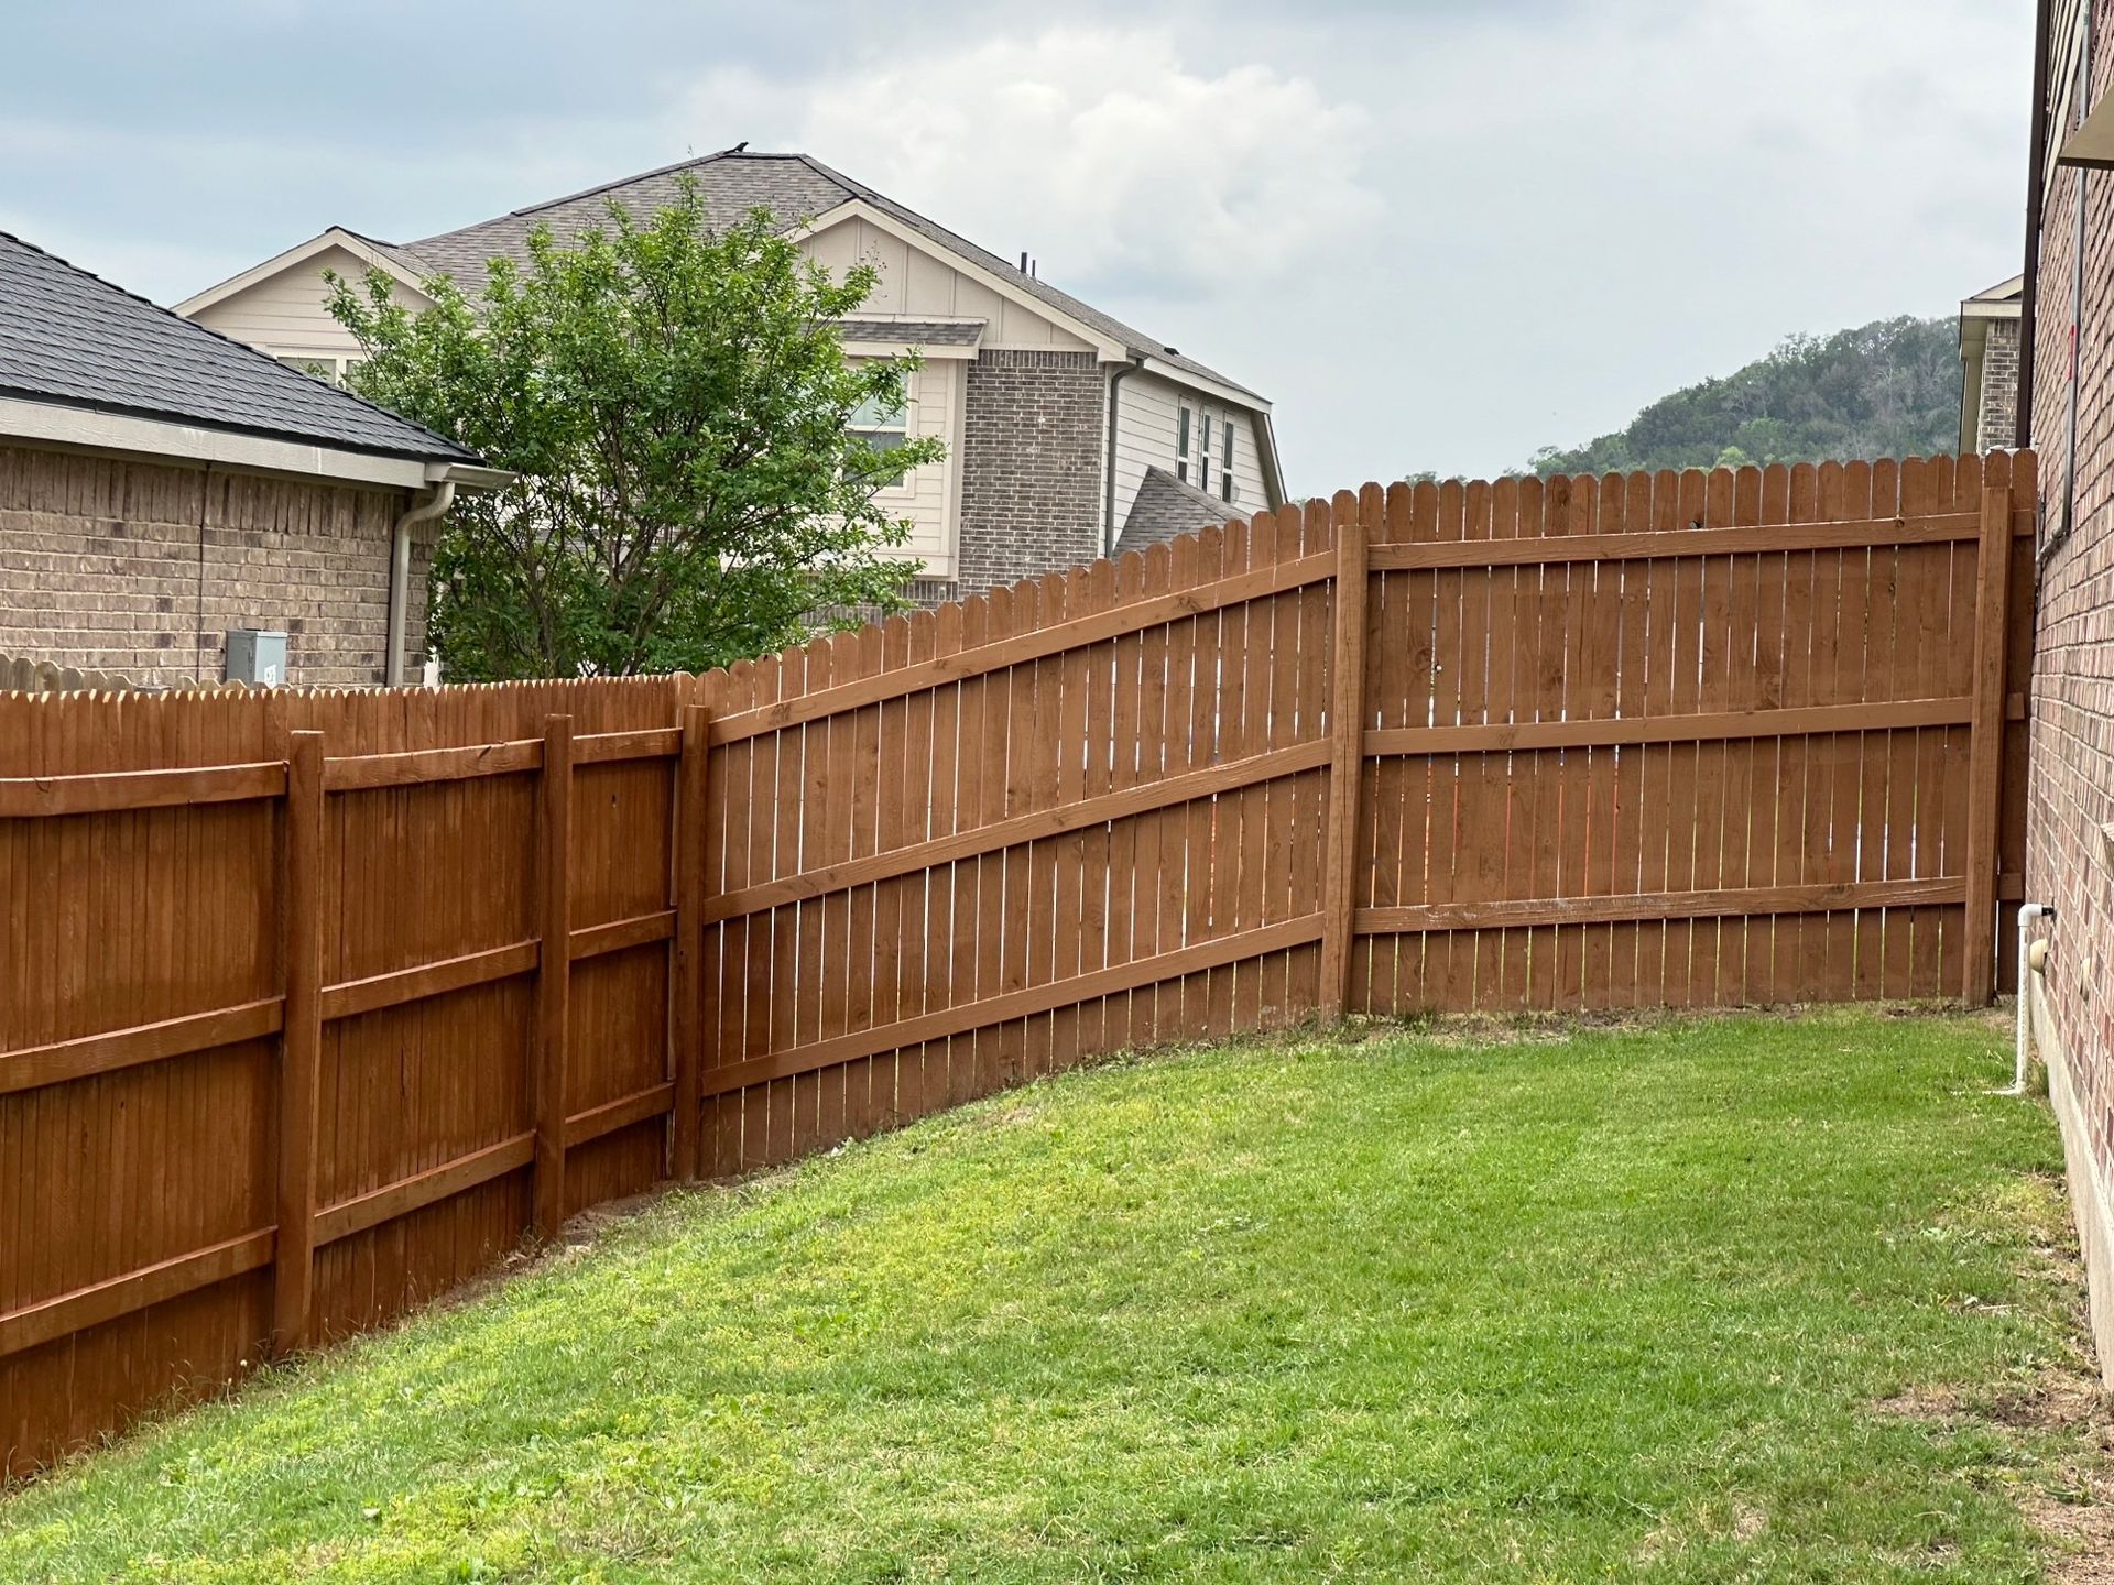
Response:
M425 649L435 518L503 478L0 232L0 653L220 680L262 630L277 680L383 683Z

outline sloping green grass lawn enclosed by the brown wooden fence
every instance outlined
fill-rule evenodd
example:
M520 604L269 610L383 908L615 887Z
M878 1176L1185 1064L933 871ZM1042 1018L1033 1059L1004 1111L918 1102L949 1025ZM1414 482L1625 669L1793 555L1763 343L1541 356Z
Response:
M80 1460L0 1579L2038 1579L2099 1467L2006 1078L1884 1014L1070 1074Z

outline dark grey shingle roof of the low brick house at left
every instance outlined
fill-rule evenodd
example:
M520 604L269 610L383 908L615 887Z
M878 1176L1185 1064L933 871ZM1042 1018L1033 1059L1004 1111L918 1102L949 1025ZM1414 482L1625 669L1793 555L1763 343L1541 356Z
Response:
M0 232L0 397L476 463L431 429Z

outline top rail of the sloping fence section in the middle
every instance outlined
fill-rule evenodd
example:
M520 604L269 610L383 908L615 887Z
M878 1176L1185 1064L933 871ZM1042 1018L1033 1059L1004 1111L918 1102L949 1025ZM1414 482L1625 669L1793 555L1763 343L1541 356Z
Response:
M1296 590L1306 583L1321 583L1332 577L1334 571L1336 566L1328 556L1306 556L1296 562L1283 562L1281 566L1258 568L1245 577L1224 579L1222 583L1201 590L1161 592L1146 600L1118 604L1112 611L1099 611L1076 621L998 636L979 649L964 649L958 655L934 655L917 666L903 666L894 672L871 674L799 700L761 706L755 710L738 710L712 721L712 742L729 744L740 738L778 731L818 716L858 710L867 704L879 704L882 700L917 693L920 689L939 687L943 683L962 683L970 676L985 676L989 672L1025 666L1027 661L1038 661L1046 655L1061 655L1063 651L1080 645L1093 645L1104 638L1118 638L1129 632L1158 628L1167 621L1180 621L1182 617L1218 611L1224 604L1239 604L1241 600L1254 600L1264 594L1283 594L1285 590ZM1021 590L1025 588L1030 585L1023 583ZM1008 594L1017 596L1017 592L1010 590Z

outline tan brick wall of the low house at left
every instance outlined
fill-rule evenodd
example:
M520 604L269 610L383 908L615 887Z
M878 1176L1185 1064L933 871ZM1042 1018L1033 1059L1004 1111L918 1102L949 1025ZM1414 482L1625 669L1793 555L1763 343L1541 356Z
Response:
M0 446L0 653L218 680L228 628L283 628L290 680L383 680L406 492ZM425 647L433 524L412 539Z

